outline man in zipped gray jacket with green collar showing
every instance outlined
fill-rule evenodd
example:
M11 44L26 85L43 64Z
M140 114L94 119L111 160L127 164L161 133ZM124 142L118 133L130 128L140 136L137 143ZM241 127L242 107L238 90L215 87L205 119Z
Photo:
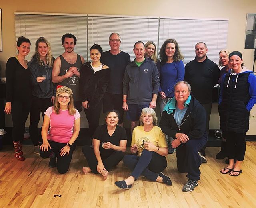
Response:
M123 109L131 121L131 133L139 125L143 108L156 108L156 98L160 79L156 64L144 58L145 44L138 41L134 44L135 59L126 66L124 73Z

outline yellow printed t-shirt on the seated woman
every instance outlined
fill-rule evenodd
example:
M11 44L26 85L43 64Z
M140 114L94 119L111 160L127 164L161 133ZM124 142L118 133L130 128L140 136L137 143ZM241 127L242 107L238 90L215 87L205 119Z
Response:
M131 146L134 144L137 145L138 156L141 155L146 141L154 143L156 147L168 147L166 137L160 127L154 126L149 132L144 131L144 128L141 125L135 127L132 132Z

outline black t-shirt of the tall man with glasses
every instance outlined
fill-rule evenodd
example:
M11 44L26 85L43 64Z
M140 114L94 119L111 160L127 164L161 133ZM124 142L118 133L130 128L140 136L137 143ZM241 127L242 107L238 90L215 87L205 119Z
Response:
M110 80L106 92L123 94L124 71L128 63L131 62L130 55L123 51L117 55L113 55L110 51L105 51L102 53L100 61L111 69Z

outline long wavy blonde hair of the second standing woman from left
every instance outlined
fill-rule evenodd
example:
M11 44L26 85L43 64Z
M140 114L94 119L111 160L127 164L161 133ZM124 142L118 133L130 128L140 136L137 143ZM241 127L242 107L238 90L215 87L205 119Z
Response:
M33 55L33 58L36 58L36 62L40 65L43 66L44 62L40 59L40 55L38 53L38 44L39 43L45 43L48 47L48 53L46 54L46 66L48 67L52 67L53 66L53 56L52 56L52 50L51 50L51 46L50 43L48 42L48 40L46 40L45 37L39 37L36 41L36 49L35 49L35 53Z

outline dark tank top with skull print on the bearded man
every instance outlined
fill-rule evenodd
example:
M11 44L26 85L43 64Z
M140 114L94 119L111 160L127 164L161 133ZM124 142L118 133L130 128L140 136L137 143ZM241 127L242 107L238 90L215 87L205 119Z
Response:
M60 76L65 75L70 67L76 67L78 71L80 71L82 66L82 61L80 55L77 54L76 63L70 64L62 55L60 55ZM74 75L72 77L68 77L62 82L59 83L62 86L67 86L71 88L73 91L74 101L80 101L79 96L79 77Z

